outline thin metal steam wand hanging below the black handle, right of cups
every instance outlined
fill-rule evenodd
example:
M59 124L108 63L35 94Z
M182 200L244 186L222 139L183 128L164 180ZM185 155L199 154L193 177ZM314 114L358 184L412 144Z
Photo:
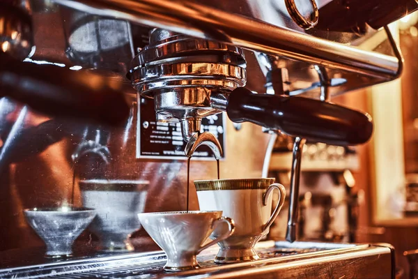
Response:
M295 138L293 144L293 158L291 168L291 196L288 212L288 227L286 231L286 240L293 242L296 240L297 225L297 202L299 202L299 182L300 182L300 163L302 161L302 148L306 140L300 137Z

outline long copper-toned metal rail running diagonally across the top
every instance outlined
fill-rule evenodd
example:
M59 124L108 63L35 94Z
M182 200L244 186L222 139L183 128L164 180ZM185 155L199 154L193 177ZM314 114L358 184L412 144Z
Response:
M63 6L105 17L158 27L198 38L208 38L256 52L279 55L320 66L392 80L398 61L392 56L366 52L308 36L261 20L223 10L170 0L54 0Z

